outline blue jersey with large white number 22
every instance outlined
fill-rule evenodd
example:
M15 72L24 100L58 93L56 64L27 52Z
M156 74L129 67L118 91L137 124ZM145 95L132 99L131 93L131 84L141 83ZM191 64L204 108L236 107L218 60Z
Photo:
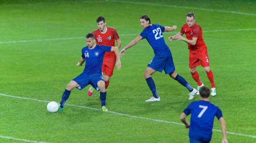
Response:
M142 32L142 39L146 38L148 43L154 50L154 54L158 56L164 56L170 53L169 47L164 42L163 32L164 27L158 24L148 25Z

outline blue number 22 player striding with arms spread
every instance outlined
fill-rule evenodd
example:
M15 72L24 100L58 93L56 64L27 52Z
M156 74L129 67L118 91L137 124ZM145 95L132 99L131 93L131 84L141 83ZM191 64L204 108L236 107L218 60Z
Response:
M156 90L156 85L154 80L152 79L152 75L158 71L169 74L170 77L177 80L180 84L185 86L189 90L189 100L194 99L197 90L192 88L187 81L175 72L174 63L172 60L172 53L169 47L164 42L163 32L170 32L172 30L176 30L177 26L173 27L162 27L158 24L152 24L148 15L142 15L140 17L141 26L144 29L138 37L133 39L128 45L126 45L121 51L120 54L123 55L126 49L132 47L136 43L138 43L141 39L147 39L148 43L154 50L155 56L148 63L148 66L144 72L144 78L148 84L149 89L152 91L153 96L146 100L148 101L160 101L160 97Z

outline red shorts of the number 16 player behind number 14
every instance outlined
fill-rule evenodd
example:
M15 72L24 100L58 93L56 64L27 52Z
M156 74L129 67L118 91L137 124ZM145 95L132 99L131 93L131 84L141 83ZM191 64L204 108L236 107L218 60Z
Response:
M115 57L105 57L103 58L103 63L101 67L101 72L106 76L112 76L115 67Z

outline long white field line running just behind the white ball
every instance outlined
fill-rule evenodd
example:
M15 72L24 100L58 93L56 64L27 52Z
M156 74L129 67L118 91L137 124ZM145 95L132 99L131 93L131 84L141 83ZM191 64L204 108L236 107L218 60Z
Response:
M31 98L27 98L27 97L13 96L13 95L7 95L7 94L0 94L0 96L13 97L13 98L18 98L18 99L26 99L26 100L33 100L33 101L46 102L46 103L50 102L50 101L46 101L46 100L31 99ZM65 104L65 105L100 111L99 108L91 108L91 107L87 107L87 106L78 106L78 105L74 105L74 104ZM145 118L145 117L140 117L140 116L133 116L133 115L128 115L128 114L124 114L124 113L118 113L118 112L115 112L115 111L108 111L108 113L113 113L113 114L117 114L117 115L121 115L121 116L127 116L127 117L131 117L131 118L140 118L140 119L144 119L144 120L150 120L150 121L156 121L156 122L161 122L161 123L170 123L170 124L184 126L182 123L177 123L177 122L173 122L173 121L164 121L164 120ZM213 131L222 132L221 130L216 130L216 129L213 129ZM227 133L232 134L232 135L237 135L237 136L247 136L247 137L251 137L251 138L256 138L256 136L246 135L246 134L242 134L242 133L233 133L233 132L229 132L229 131L227 131Z

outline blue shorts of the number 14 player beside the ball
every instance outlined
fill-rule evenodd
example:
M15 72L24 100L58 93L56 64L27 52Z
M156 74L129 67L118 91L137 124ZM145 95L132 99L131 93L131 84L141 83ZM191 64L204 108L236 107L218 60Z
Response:
M77 87L77 89L82 90L84 87L86 87L88 84L91 84L93 88L95 88L97 91L99 91L99 88L97 86L98 81L104 81L102 74L80 74L76 78L73 79L73 81L76 81L77 84L80 85L80 87Z

